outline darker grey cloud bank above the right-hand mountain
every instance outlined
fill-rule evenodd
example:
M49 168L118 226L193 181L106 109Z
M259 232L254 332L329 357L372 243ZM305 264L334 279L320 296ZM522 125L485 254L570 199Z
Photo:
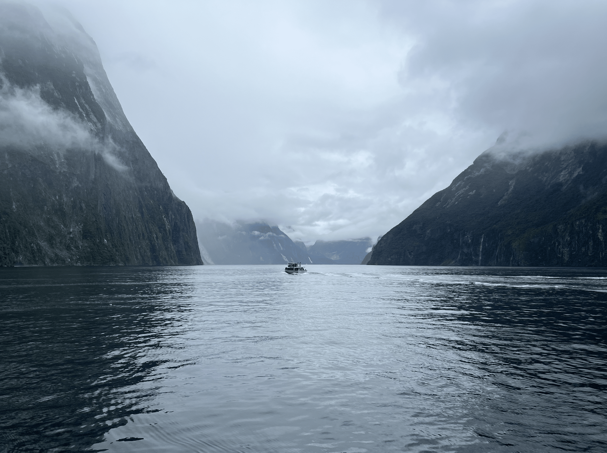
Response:
M607 136L605 2L381 5L416 37L402 86L436 102L464 132L510 130L521 147Z

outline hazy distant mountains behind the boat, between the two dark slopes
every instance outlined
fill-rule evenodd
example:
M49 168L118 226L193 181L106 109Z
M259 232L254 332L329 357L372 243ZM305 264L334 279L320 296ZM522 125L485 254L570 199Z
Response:
M265 222L198 222L198 241L206 264L361 264L370 238L316 241L306 247Z

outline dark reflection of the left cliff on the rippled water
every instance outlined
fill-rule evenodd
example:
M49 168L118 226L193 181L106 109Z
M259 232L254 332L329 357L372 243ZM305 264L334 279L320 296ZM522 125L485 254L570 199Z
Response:
M158 411L149 384L168 358L164 328L192 291L179 269L20 268L0 272L0 439L7 451L79 451ZM174 331L174 334L178 332Z

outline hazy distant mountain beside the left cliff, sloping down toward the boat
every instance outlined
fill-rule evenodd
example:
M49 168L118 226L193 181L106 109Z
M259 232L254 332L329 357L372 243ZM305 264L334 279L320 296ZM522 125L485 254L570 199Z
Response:
M312 263L279 227L264 222L205 220L198 223L198 240L206 264Z

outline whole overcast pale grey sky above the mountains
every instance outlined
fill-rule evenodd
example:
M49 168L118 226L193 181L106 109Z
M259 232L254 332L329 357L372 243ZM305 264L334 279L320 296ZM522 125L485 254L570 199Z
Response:
M60 0L194 218L373 238L504 132L607 131L607 2Z

